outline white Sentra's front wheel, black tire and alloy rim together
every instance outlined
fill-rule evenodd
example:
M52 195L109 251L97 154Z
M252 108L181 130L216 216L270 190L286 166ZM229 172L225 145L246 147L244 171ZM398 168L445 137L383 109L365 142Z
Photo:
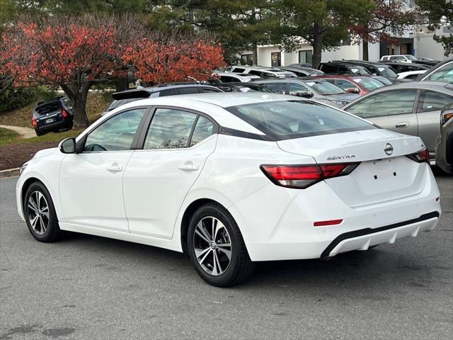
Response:
M36 181L28 187L23 200L23 215L28 230L39 242L54 242L62 235L54 203L41 182Z

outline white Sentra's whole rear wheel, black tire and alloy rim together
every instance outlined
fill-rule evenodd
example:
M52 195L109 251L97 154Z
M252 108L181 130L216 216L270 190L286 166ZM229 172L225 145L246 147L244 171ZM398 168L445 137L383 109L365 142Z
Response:
M195 271L210 285L229 287L243 283L255 269L234 218L216 204L203 205L193 214L187 249Z

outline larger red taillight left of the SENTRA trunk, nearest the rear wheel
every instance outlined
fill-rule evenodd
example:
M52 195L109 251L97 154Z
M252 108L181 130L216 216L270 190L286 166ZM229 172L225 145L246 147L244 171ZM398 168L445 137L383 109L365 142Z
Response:
M260 169L277 186L304 189L314 183L332 177L351 173L359 163L309 164L309 165L270 165L263 164Z

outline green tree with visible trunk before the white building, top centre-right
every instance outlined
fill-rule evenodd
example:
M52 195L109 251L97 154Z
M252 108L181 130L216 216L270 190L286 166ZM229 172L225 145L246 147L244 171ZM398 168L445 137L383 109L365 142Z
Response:
M349 28L369 17L370 0L278 0L282 26L275 32L285 50L301 38L313 47L313 66L318 67L323 50L338 47L350 37Z

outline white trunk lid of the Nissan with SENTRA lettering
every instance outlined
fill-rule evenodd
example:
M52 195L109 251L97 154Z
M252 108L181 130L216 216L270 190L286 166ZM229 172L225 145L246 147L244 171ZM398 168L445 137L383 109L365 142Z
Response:
M420 193L427 169L406 157L425 147L419 137L383 129L282 140L280 149L313 157L318 164L360 162L348 176L325 182L351 208ZM391 145L391 154L388 145Z

